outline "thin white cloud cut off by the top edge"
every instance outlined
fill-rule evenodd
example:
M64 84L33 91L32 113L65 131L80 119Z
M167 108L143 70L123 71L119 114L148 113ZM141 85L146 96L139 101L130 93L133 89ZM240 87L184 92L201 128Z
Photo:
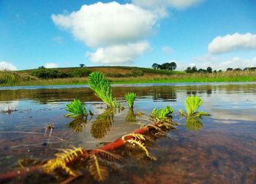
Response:
M143 7L174 7L176 9L184 9L200 3L203 0L132 0L134 4Z

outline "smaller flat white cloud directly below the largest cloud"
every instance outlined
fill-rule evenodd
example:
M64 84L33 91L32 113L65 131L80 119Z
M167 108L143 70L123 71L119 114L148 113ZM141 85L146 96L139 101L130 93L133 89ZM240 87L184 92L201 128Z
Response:
M150 49L148 42L138 42L99 47L95 53L87 53L87 55L97 64L129 64L148 49Z

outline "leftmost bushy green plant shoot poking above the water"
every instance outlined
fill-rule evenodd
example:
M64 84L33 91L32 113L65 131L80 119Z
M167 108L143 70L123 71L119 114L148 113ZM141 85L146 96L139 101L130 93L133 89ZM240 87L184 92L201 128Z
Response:
M82 102L79 99L74 99L70 104L67 104L67 111L70 113L66 117L76 118L78 116L87 116L86 107L83 106ZM90 112L91 113L91 112Z

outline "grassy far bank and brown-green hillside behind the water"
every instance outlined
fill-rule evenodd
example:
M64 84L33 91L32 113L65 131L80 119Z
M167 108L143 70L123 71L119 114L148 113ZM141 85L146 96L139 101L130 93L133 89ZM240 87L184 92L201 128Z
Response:
M133 70L132 70L133 69ZM65 69L59 69L66 72ZM67 70L67 69L66 69ZM186 73L143 69L125 66L91 67L91 71L104 73L111 83L211 83L211 82L256 82L255 71L227 71L213 73ZM86 70L88 71L88 70ZM119 71L119 72L118 72ZM1 86L15 85L84 85L88 77L80 77L80 73L89 74L83 70L75 70L73 77L37 77L31 75L34 71L7 72L0 71ZM63 73L59 72L59 74ZM53 74L56 74L56 72ZM70 73L69 73L70 74ZM83 75L82 75L83 76Z

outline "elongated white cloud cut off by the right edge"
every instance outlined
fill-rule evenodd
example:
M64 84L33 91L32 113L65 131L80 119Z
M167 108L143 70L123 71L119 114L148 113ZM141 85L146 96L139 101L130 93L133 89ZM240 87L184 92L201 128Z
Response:
M229 53L234 50L256 49L256 34L227 34L216 37L208 45L208 51L213 54Z

